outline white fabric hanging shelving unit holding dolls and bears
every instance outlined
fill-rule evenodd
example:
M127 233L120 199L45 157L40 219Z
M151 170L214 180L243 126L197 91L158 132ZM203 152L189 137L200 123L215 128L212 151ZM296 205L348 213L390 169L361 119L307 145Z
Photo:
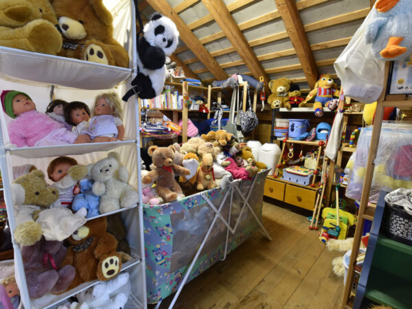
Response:
M116 1L113 8L108 9L111 10L114 17L117 41L121 44L125 43L126 49L129 52L131 66L136 67L136 27L133 1L119 0ZM117 27L122 29L116 31ZM130 85L130 81L133 78L132 69L0 47L0 90L16 89L29 94L36 103L37 110L42 112L45 111L49 102L50 93L54 93L56 98L69 102L79 100L91 106L95 95L104 91L117 91L119 96L122 97L126 87ZM44 172L53 157L70 155L78 160L79 163L87 164L106 157L108 151L115 151L119 153L122 163L130 173L130 185L133 185L138 190L139 196L141 196L141 181L140 177L137 176L141 172L139 127L136 125L139 123L140 118L137 98L130 98L124 104L123 110L123 122L126 128L125 136L127 137L124 141L32 148L12 147L7 131L7 124L10 119L7 119L8 116L4 115L3 111L1 111L0 167L12 239L14 239L13 233L14 229L16 229L10 194L10 184L13 180L13 165L31 163ZM132 260L124 262L122 265L122 271L130 273L130 282L132 284L132 293L125 308L147 308L141 198L133 207L119 209L100 216L107 216L116 212L122 213L122 218L128 231L127 240L130 244L130 255L132 256ZM93 220L93 218L88 220ZM26 309L56 308L58 305L64 304L68 297L76 295L81 290L85 290L98 283L98 280L93 280L61 295L47 293L40 299L30 299L20 246L13 242L13 248L16 279L21 292L21 301L23 301L23 306Z

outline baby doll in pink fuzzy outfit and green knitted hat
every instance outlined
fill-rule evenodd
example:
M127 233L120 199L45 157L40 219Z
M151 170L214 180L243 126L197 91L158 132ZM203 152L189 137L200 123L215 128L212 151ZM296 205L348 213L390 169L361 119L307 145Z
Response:
M3 111L13 118L8 125L12 144L17 147L73 144L77 139L62 124L36 111L36 104L25 93L3 90L0 95Z

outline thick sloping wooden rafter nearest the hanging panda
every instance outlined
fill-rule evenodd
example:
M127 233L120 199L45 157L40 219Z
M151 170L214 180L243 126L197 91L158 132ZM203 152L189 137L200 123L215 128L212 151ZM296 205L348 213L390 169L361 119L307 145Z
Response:
M148 3L163 15L168 16L176 24L177 29L180 33L180 38L187 47L192 49L192 52L196 57L203 62L203 65L209 69L218 80L225 80L227 78L227 73L218 62L207 52L207 49L199 42L198 38L193 34L193 32L187 27L187 25L182 21L173 8L169 5L166 0L147 0Z

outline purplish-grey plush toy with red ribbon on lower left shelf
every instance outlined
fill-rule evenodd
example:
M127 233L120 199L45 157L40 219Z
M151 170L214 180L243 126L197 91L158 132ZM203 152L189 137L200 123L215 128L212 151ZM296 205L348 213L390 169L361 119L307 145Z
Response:
M31 246L21 247L30 298L38 299L49 292L60 294L69 287L76 270L71 265L60 267L66 253L62 241L47 241L44 237Z

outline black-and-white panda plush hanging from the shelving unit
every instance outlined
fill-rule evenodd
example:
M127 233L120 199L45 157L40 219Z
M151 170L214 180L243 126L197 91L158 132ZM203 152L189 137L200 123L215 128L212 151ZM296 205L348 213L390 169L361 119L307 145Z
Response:
M173 54L179 43L179 31L171 19L156 12L143 28L137 45L137 76L130 89L122 98L132 95L141 99L155 98L163 91L167 56Z

